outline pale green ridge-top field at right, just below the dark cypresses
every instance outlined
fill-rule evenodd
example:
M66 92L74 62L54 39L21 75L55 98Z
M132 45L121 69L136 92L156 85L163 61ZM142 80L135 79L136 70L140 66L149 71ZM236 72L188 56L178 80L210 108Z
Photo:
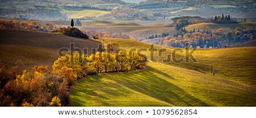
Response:
M195 28L195 29L203 30L203 28L205 27L210 27L211 29L215 29L215 30L218 28L236 29L237 27L254 29L256 27L256 23L255 22L234 23L234 24L199 23L199 24L188 25L187 27L185 27L185 29L193 30L193 28Z

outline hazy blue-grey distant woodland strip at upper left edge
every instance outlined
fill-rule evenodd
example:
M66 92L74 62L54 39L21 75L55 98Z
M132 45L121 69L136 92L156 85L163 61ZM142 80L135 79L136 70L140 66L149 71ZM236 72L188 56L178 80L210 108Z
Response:
M60 19L64 16L56 8L0 8L2 18Z

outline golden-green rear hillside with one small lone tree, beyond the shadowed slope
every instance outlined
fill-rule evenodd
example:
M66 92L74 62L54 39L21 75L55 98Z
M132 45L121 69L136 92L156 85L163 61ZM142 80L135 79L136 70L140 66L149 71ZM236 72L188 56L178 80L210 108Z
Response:
M125 49L131 48L146 48L150 47L150 44L143 43L139 41L131 40L119 40L109 38L107 39L110 42L119 43ZM155 46L159 49L167 49L167 52L163 53L163 59L167 59L167 54L172 54L174 48L171 47L162 47ZM255 85L256 80L256 70L253 69L256 66L256 56L255 50L256 47L241 47L241 48L229 48L229 49L200 49L195 51L193 56L197 59L199 63L174 63L170 62L168 65L173 65L176 67L192 69L195 71L208 73L210 74L210 66L214 65L220 69L220 72L217 76L228 78L229 80L241 80L239 82ZM176 59L185 59L185 50L184 53L177 53ZM147 52L149 55L149 52ZM158 57L158 53L155 53L155 59L158 59L160 62L161 57ZM246 71L243 71L246 70Z

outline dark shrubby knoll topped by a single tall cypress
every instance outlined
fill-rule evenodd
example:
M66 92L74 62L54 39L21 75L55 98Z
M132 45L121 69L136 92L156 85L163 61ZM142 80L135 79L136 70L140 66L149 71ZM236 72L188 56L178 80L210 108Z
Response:
M72 23L71 25L74 26L74 23L73 24ZM73 26L68 28L63 27L63 28L60 28L59 30L53 30L52 33L61 33L61 34L64 34L65 36L89 39L89 36L86 33L81 32L78 28L75 28Z

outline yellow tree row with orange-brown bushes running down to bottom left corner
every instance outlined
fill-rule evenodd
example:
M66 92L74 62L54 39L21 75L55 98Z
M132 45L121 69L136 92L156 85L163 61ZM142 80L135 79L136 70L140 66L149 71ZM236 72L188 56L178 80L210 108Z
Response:
M69 106L69 90L77 79L145 68L145 55L118 50L118 43L106 47L106 52L91 55L63 55L54 62L52 71L39 65L29 73L20 61L13 67L0 63L0 106ZM111 53L112 49L117 51Z

